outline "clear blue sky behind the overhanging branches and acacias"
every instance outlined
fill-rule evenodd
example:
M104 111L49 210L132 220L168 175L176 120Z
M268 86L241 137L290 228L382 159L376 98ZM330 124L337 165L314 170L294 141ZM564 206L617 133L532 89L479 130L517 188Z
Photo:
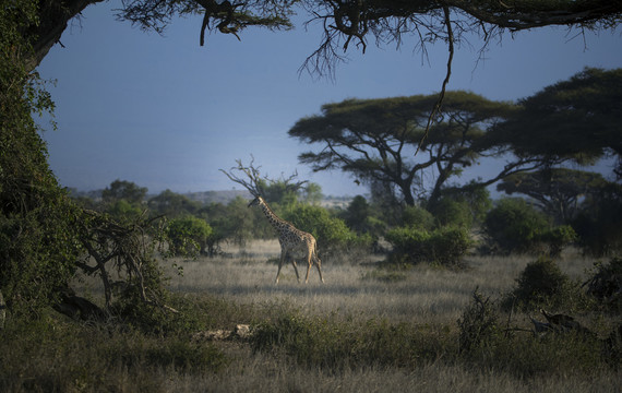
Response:
M298 73L321 41L318 28L250 28L241 41L212 34L200 47L199 16L174 21L160 36L116 21L117 7L88 7L64 32L64 48L55 46L38 68L41 78L56 80L49 91L58 130L44 132L51 168L63 186L80 190L115 179L149 193L232 189L218 169L238 158L248 163L252 154L270 177L297 170L325 194L367 193L348 176L312 174L298 164L309 146L287 131L325 103L438 92L445 73L446 46L428 47L422 59L415 38L407 38L398 50L371 44L364 55L350 50L334 82L318 80ZM622 67L619 31L575 34L560 27L506 35L479 62L480 43L473 40L456 51L447 88L515 100L585 67ZM486 163L469 175L495 166Z

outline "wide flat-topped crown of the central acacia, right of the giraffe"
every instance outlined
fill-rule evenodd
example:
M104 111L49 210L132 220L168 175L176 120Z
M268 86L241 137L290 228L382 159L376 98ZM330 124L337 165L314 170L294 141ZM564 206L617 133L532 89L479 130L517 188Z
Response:
M447 92L443 112L424 139L435 99L435 95L418 95L326 104L322 115L297 121L289 135L320 145L319 151L299 156L314 171L338 168L363 181L394 184L408 205L416 201L414 187L423 193L423 174L434 171L429 199L436 200L452 176L491 150L499 153L485 142L486 130L507 117L514 106L474 93Z

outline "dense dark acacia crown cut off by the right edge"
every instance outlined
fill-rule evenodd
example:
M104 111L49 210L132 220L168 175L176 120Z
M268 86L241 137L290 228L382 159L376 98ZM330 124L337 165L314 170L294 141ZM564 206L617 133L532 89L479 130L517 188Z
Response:
M516 156L582 165L613 156L622 178L622 69L587 68L518 104L521 109L495 130Z

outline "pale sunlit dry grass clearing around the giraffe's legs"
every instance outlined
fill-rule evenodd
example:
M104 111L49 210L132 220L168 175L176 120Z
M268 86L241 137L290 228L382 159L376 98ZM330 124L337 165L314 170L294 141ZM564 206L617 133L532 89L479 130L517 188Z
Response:
M455 322L470 301L476 287L498 297L515 285L515 278L533 257L467 259L468 269L450 271L427 265L400 271L404 279L384 282L370 278L382 257L322 257L325 284L312 267L304 284L307 267L298 264L301 283L291 264L283 267L274 284L280 249L277 240L254 241L246 249L229 247L230 258L177 261L182 276L172 276L170 288L182 294L211 295L243 305L262 307L287 302L310 314L339 313L345 317L386 318L392 322ZM271 260L268 262L268 260ZM591 260L577 255L560 261L571 277L583 277Z

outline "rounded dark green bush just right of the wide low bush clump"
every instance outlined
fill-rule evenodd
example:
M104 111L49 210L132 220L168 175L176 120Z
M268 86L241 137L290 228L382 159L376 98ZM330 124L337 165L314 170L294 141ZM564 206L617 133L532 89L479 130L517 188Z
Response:
M522 199L502 199L483 223L483 231L492 247L504 253L535 251L541 235L549 230L547 217Z

